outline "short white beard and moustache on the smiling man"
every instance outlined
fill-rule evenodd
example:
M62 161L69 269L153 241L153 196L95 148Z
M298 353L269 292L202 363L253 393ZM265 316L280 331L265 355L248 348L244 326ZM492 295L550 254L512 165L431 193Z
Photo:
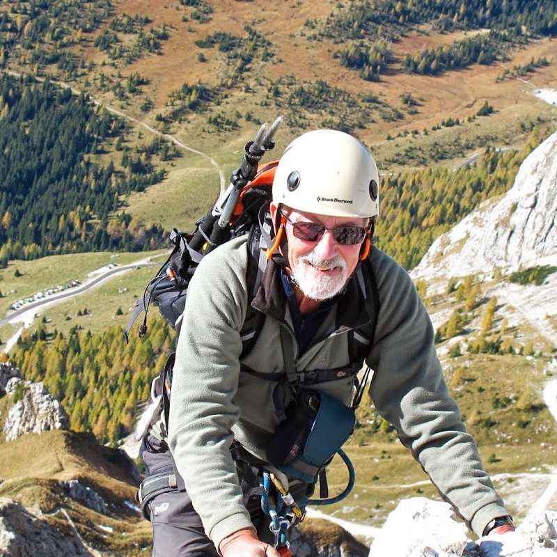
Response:
M319 276L316 278L311 267L325 270L338 267L340 273L336 276ZM292 268L290 278L305 297L323 301L342 292L350 277L348 276L346 260L342 256L321 259L313 251L310 251L297 260L296 265Z

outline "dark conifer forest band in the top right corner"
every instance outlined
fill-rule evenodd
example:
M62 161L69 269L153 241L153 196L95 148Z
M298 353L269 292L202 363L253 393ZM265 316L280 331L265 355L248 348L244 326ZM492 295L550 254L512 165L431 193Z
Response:
M557 8L551 0L446 1L352 0L343 3L324 22L306 22L315 40L333 38L347 46L334 57L347 68L359 70L367 81L380 81L398 61L389 52L407 29L431 24L437 32L489 29L457 40L452 45L407 53L398 64L403 72L436 75L472 64L505 61L511 48L531 38L555 36Z

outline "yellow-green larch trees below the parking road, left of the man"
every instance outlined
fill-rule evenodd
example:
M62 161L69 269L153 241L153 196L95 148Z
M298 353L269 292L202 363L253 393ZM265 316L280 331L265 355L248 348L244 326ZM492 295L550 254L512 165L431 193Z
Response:
M116 443L132 432L137 407L148 400L174 336L162 318L152 320L146 338L132 334L129 343L120 327L107 327L103 334L74 327L65 338L42 322L19 338L10 361L26 380L45 383L68 412L72 430Z

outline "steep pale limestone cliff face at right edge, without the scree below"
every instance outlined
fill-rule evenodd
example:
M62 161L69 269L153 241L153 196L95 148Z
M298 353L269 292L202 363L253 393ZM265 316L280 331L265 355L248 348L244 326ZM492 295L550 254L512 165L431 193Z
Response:
M503 198L439 237L411 275L431 281L534 264L557 265L557 133L526 158Z

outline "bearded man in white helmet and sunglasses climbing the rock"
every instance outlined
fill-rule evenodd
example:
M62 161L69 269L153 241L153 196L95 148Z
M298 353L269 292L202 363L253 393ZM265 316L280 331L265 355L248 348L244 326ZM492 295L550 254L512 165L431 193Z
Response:
M378 182L370 152L354 137L308 132L276 168L274 243L255 297L246 237L203 258L189 285L168 421L183 483L149 503L154 554L278 557L273 546L281 544L253 496L250 471L282 472L303 507L317 473L299 459L299 444L280 456L288 440L283 424L313 397L316 411L334 414L329 437L336 435L363 363L354 338L361 341L370 323L375 334L363 339L363 360L374 372L370 395L379 414L478 535L513 528L448 395L432 324L411 279L371 246ZM379 302L375 315L370 288ZM249 304L264 320L253 349L242 354Z

